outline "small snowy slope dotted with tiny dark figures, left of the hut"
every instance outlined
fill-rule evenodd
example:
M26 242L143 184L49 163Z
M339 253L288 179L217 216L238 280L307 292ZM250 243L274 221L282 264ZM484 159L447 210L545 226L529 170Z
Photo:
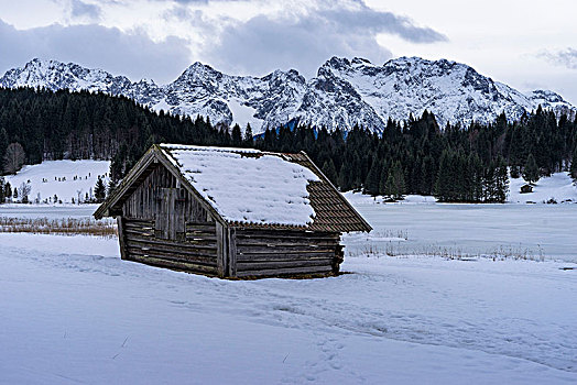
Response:
M57 196L63 202L84 200L86 194L92 194L98 176L108 185L109 161L44 161L41 164L24 166L17 175L6 176L12 188L28 183L32 190L29 199L34 201L40 194L40 201ZM76 180L74 179L76 177ZM59 179L59 180L58 180Z

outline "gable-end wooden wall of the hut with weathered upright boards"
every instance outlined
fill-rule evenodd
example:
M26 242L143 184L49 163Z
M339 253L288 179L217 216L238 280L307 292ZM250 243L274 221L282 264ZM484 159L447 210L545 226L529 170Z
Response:
M140 184L122 209L126 260L222 275L217 266L216 222L163 166Z

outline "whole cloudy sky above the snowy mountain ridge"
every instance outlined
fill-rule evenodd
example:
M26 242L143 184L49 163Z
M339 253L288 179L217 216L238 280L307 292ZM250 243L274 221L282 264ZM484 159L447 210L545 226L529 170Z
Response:
M311 78L335 55L421 56L577 105L569 0L0 0L0 9L1 74L41 57L159 84L197 61L228 74L295 68Z

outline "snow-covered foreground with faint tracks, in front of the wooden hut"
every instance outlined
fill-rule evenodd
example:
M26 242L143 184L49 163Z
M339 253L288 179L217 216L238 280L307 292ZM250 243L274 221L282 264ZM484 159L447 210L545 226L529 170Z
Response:
M0 234L0 383L577 381L567 264L348 256L339 277L231 282L117 248Z

